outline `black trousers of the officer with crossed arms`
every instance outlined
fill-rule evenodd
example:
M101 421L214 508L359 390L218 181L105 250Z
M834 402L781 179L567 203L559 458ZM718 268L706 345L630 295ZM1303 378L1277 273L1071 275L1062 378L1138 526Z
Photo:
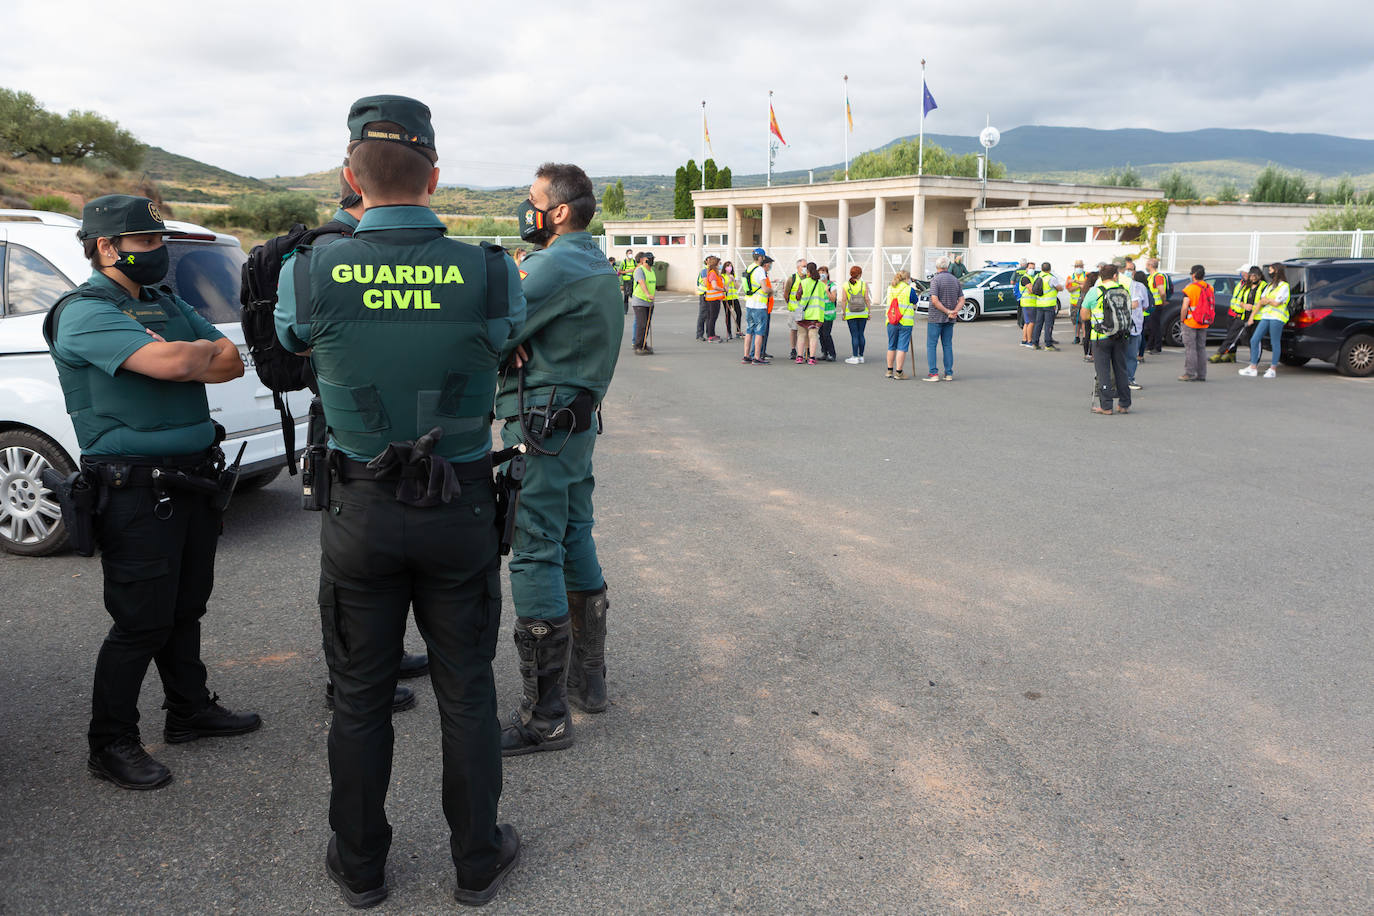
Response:
M106 461L131 459L99 456L82 464ZM205 493L176 490L158 505L147 485L106 492L95 533L104 573L104 610L114 625L95 663L87 733L92 751L125 735L139 736L139 691L150 662L162 678L168 710L192 715L209 705L201 618L214 589L221 520Z

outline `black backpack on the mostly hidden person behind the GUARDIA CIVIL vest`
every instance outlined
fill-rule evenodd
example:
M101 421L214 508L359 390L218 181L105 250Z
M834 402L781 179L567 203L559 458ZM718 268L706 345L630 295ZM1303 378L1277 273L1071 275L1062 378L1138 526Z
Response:
M353 229L333 220L316 229L297 222L286 235L253 246L249 260L243 262L243 283L239 287L243 343L247 345L249 360L258 380L272 391L272 405L282 415L286 467L291 474L295 474L295 419L282 396L304 389L316 391L316 387L311 361L287 350L276 338L276 284L282 276L282 262L290 254L327 235L350 236Z

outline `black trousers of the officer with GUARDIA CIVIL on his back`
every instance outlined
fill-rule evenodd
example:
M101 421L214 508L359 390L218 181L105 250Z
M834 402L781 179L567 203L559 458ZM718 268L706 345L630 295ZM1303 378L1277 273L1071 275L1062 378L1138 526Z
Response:
M492 658L502 617L491 471L451 503L396 500L394 479L335 481L320 529L320 623L334 678L330 827L344 872L383 879L392 827L392 696L407 610L429 650L444 750L442 798L460 880L499 864L500 724Z

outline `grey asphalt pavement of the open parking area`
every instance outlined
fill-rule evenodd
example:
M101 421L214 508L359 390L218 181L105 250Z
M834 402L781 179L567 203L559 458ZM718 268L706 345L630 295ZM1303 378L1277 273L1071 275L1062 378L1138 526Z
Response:
M1374 383L1179 383L1167 350L1094 416L1072 332L959 325L958 380L893 382L875 317L864 365L787 363L780 319L741 365L680 295L653 356L627 325L596 450L611 707L506 762L526 846L489 911L1370 912ZM0 555L0 912L346 912L298 505L286 475L235 499L205 621L212 689L265 724L164 746L150 672L155 792L85 772L99 560ZM496 683L511 709L508 636ZM456 906L409 684L383 913Z

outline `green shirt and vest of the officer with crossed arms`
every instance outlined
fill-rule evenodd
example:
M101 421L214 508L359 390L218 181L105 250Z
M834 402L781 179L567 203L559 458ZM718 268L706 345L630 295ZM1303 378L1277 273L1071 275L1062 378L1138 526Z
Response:
M169 382L121 368L154 339L218 341L224 335L184 301L144 287L132 298L99 271L88 287L117 301L77 295L58 316L52 358L82 455L194 455L214 444L201 382Z

